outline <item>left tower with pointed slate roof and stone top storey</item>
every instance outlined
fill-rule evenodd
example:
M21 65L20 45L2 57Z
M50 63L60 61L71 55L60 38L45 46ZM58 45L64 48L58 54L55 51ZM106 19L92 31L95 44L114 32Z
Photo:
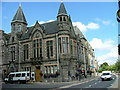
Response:
M27 21L20 5L12 22L11 22L12 32L25 32L27 29Z

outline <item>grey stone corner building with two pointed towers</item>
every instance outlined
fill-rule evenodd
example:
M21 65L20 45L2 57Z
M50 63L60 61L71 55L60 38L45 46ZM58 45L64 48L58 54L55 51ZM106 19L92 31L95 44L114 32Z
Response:
M64 3L57 19L27 26L21 5L11 21L11 32L0 30L2 76L32 71L36 81L70 81L76 73L95 72L95 54L82 32L72 25Z

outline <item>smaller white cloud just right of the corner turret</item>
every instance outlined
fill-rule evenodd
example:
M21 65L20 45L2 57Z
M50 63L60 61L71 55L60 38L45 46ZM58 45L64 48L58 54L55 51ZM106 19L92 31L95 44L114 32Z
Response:
M99 24L96 23L89 23L87 25L83 24L82 22L73 22L73 26L77 26L82 32L86 32L88 29L99 29Z

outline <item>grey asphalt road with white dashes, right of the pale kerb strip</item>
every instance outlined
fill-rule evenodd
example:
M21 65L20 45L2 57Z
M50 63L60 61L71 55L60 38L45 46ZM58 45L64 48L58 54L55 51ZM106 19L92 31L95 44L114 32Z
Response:
M88 90L88 89L91 89L91 90L108 90L108 88L110 86L112 86L112 84L115 82L116 80L116 76L113 76L113 80L110 80L110 81L101 81L100 78L97 78L97 79L94 79L94 80L91 80L91 81L86 81L85 83L80 83L79 85L73 85L73 86L68 86L67 88L79 88L79 90ZM64 87L60 87L62 90L65 90Z

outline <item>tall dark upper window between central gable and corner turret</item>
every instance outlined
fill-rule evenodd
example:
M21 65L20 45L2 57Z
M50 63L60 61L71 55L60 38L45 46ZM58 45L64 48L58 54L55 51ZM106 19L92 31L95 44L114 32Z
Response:
M50 58L51 56L53 56L53 41L47 41L46 43L47 46L47 57Z

